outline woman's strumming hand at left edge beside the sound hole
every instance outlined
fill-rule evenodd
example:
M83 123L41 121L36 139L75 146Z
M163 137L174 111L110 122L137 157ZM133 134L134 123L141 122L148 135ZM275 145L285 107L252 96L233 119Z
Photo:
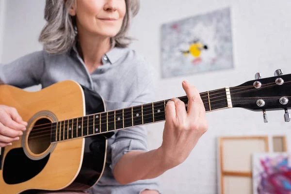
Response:
M27 122L15 108L0 105L0 147L11 146L13 141L19 140L26 126Z

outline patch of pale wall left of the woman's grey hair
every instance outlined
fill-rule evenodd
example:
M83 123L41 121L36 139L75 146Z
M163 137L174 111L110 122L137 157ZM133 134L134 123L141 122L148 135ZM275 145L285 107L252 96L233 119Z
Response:
M45 0L6 0L0 63L6 64L42 49L38 35L45 25L44 7ZM36 91L40 88L32 86L25 90Z

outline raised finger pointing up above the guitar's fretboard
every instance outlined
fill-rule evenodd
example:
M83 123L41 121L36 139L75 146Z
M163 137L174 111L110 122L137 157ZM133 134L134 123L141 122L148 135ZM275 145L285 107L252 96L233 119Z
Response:
M189 84L188 81L183 81L182 86L188 97L188 114L192 116L199 116L201 106L203 105L204 107L199 92L193 85Z

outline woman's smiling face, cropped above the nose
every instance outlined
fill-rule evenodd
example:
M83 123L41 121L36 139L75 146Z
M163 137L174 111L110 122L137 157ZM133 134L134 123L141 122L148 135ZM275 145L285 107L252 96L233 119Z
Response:
M76 0L69 10L77 16L78 31L87 31L102 36L115 36L126 14L125 0ZM80 29L81 28L81 29Z

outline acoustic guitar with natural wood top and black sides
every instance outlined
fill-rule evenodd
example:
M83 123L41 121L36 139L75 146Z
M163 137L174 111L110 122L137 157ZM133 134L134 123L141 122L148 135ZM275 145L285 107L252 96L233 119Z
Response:
M162 100L106 111L103 98L75 81L55 83L38 92L0 85L0 104L15 107L27 130L12 146L1 148L0 193L36 193L38 190L86 190L102 176L107 138L114 131L165 120ZM291 74L247 81L200 93L207 112L240 107L283 110L291 119ZM178 97L185 102L187 96ZM92 151L94 150L94 151Z

